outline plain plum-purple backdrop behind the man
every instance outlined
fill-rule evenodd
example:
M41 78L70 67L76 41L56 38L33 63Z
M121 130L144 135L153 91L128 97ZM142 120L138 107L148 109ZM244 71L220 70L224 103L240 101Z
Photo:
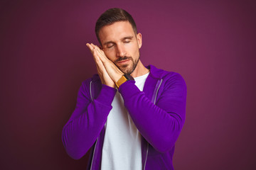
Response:
M85 169L61 130L96 72L86 42L107 8L132 14L142 62L188 87L178 169L256 169L255 1L1 1L0 169Z

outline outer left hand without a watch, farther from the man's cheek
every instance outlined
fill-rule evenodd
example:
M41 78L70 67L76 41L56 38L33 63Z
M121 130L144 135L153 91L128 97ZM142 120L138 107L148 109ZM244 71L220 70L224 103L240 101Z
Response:
M97 67L97 73L100 76L100 80L102 81L102 84L105 84L107 86L113 87L115 86L114 81L110 78L109 74L107 74L107 71L100 60L100 57L97 55L97 51L95 50L95 45L87 43L86 46L90 49L92 52L93 59L95 60L95 64Z

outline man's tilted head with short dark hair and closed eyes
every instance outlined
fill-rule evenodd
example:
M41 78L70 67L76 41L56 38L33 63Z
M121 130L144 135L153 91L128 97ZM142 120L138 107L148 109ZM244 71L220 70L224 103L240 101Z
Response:
M97 20L95 32L102 50L125 74L132 74L139 62L142 34L137 33L132 16L120 8L110 8Z

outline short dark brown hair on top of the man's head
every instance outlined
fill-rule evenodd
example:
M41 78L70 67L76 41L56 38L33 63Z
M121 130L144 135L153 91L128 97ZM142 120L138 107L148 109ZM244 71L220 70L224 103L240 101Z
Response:
M129 21L129 23L132 25L132 29L134 30L135 35L137 35L137 26L132 16L122 8L110 8L105 11L105 13L102 13L100 18L97 19L95 26L97 40L100 42L99 32L102 27L111 25L112 23L118 21Z

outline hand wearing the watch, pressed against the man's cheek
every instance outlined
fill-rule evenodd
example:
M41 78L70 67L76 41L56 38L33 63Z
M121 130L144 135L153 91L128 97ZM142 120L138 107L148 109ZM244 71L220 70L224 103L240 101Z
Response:
M97 45L91 45L95 49L95 55L97 55L95 57L101 60L102 64L105 67L105 70L107 71L107 74L110 76L112 81L117 82L124 73L112 61L110 61L107 58L105 53L102 50L100 50L100 48L97 47Z

